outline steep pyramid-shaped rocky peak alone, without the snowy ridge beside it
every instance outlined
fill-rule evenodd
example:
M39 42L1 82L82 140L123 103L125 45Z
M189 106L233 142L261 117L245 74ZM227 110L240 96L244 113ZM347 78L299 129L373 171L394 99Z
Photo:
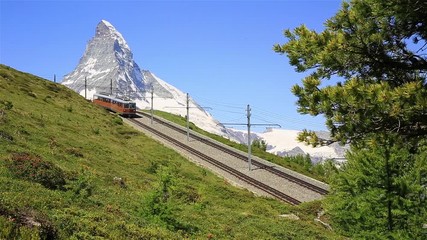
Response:
M123 36L105 20L98 24L79 64L62 84L85 96L85 79L88 99L95 92L111 89L116 95L143 97L146 83L141 70Z

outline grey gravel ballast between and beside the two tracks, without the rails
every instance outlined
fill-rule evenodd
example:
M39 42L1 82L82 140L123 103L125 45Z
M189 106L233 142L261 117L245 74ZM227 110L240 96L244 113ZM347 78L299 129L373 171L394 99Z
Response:
M305 187L302 187L302 186L300 186L300 185L298 185L296 183L293 183L293 182L291 182L289 180L286 180L286 179L284 179L282 177L279 177L279 176L277 176L277 175L275 175L275 174L273 174L271 172L268 172L265 169L260 169L260 168L256 168L255 166L252 166L252 171L249 171L249 166L248 166L248 163L246 161L243 161L243 160L241 160L241 159L239 159L239 158L237 158L235 156L232 156L232 155L230 155L228 153L222 152L219 149L214 148L212 146L209 146L209 145L207 145L205 143L202 143L202 142L200 142L200 141L198 141L196 139L192 139L191 136L190 136L189 141L187 141L187 135L186 134L177 132L177 131L175 131L175 130L167 127L167 126L164 126L163 124L161 124L161 123L159 123L157 121L154 121L153 124L151 124L151 119L148 118L148 117L143 116L141 118L137 118L136 120L139 121L139 122L141 122L141 123L144 123L144 124L146 124L146 125L148 125L148 126L150 126L152 128L154 128L154 129L156 129L158 131L161 131L162 133L164 133L164 134L166 134L166 135L168 135L170 137L173 137L173 138L179 140L182 143L186 143L190 147L192 147L192 148L194 148L194 149L196 149L196 150L204 153L205 155L208 155L208 156L210 156L210 157L212 157L212 158L214 158L214 159L216 159L216 160L218 160L218 161L220 161L220 162L222 162L222 163L224 163L224 164L226 164L228 166L231 166L234 169L236 169L236 170L238 170L238 171L240 171L240 172L242 172L242 173L244 173L244 174L246 174L246 175L248 175L248 176L250 176L250 177L252 177L252 178L254 178L256 180L258 180L258 181L261 181L264 184L267 184L268 186L273 187L273 188L275 188L275 189L277 189L277 190L279 190L279 191L281 191L281 192L283 192L283 193L285 193L285 194L287 194L287 195L289 195L289 196L291 196L291 197L293 197L293 198L295 198L295 199L297 199L297 200L299 200L301 202L308 202L308 201L313 201L313 200L317 200L317 199L323 198L323 196L321 194L316 193L316 192L314 192L314 191L312 191L310 189L307 189ZM177 152L179 152L181 155L185 156L187 159L195 162L196 164L198 164L198 165L200 165L200 166L202 166L204 168L207 168L207 169L211 170L215 174L217 174L217 175L221 176L222 178L226 179L232 185L248 189L249 191L251 191L251 192L253 192L253 193L255 193L256 195L259 195L259 196L269 196L269 197L271 197L269 194L265 193L264 191L259 190L259 189L255 188L255 187L247 184L246 182L243 182L243 181L237 179L236 177L230 175L229 173L227 173L227 172L225 172L225 171L217 168L216 166L214 166L214 165L212 165L212 164L210 164L210 163L208 163L208 162L200 159L199 157L197 157L197 156L195 156L195 155L193 155L191 153L188 153L185 150L182 150L182 149L178 148L177 146L175 146L175 145L167 142L166 140L164 140L164 139L156 136L155 134L149 132L148 130L136 126L135 124L133 124L132 122L128 121L127 119L124 119L124 121L126 123L130 124L131 126L135 127L136 129L144 132L148 136L153 137L157 141L161 142L163 145L165 145L167 147L170 147L172 149L175 149ZM162 121L165 121L165 120L162 119ZM168 122L168 123L171 123L171 122ZM185 128L183 128L181 126L178 126L178 125L176 125L174 123L171 123L171 124L173 124L174 126L177 126L177 127L181 128L181 129L185 130ZM191 131L191 133L195 134L195 135L198 135L198 136L201 136L204 139L209 139L209 138L207 138L205 136L199 135L198 133L195 133L195 132L192 132L192 131ZM230 147L228 147L228 146L226 146L226 145L224 145L222 143L218 143L218 142L216 142L216 141L214 141L212 139L209 139L209 141L213 141L213 142L215 142L217 144L220 144L221 146L224 146L224 147L227 147L227 148L230 149ZM240 152L239 150L235 150L235 149L233 149L233 151ZM246 154L244 152L240 152L240 153ZM327 184L322 183L320 181L317 181L317 180L315 180L313 178L310 178L310 177L307 177L307 176L302 175L300 173L297 173L297 172L294 172L292 170L286 169L286 168L281 167L279 165L276 165L274 163L265 161L265 160L260 159L258 157L253 157L253 159L256 159L257 161L265 163L265 164L267 164L269 166L272 166L272 167L274 167L276 169L279 169L280 171L283 171L285 173L291 174L294 177L303 179L304 181L309 182L309 183L311 183L313 185L316 185L316 186L319 186L321 188L329 190L329 186Z

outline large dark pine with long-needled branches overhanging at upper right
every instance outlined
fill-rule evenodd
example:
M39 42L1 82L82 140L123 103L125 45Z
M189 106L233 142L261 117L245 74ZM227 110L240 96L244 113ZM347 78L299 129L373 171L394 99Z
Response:
M372 131L407 138L427 135L427 2L353 0L325 23L321 33L300 26L286 30L274 50L298 72L298 111L324 115L332 141L350 143ZM327 81L339 77L335 85ZM324 86L324 87L322 87ZM312 131L312 145L329 144Z

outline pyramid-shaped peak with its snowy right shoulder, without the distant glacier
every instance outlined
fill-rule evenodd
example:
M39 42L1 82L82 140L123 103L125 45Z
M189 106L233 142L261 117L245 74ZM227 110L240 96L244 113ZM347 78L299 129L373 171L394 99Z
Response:
M79 64L62 84L87 99L100 92L128 97L140 109L151 107L153 91L155 110L187 115L187 95L150 71L141 70L122 34L106 20L97 25ZM226 129L191 98L189 107L190 121L206 131L228 136Z

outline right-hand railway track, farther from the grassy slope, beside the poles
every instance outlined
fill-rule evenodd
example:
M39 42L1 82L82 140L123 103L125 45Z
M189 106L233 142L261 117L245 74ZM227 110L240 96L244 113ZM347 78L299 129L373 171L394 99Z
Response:
M145 116L145 117L151 117L151 115L149 115L149 114L147 114L147 113L144 113L144 112L138 112L138 113L139 113L140 115ZM158 122L158 123L160 123L160 124L162 124L162 125L165 125L166 127L169 127L169 128L171 128L171 129L173 129L173 130L175 130L175 131L178 131L178 132L180 132L180 133L183 133L183 134L186 134L186 133L187 133L187 132L186 132L185 130L183 130L182 128L179 128L179 127L177 127L177 126L175 126L175 125L172 125L172 124L170 124L170 123L168 123L168 122L162 121L161 119L158 119L158 118L156 118L156 117L154 118L154 121L156 121L156 122ZM246 156L246 155L243 155L243 154L240 154L240 153L238 153L238 152L235 152L235 151L233 151L233 150L231 150L231 149L225 148L225 147L223 147L223 146L221 146L221 145L219 145L219 144L216 144L216 143L214 143L214 142L212 142L212 141L209 141L209 140L207 140L207 139L205 139L205 138L203 138L203 137L200 137L200 136L195 135L195 134L192 134L192 133L190 133L190 137L191 137L191 138L193 138L193 139L195 139L195 140L197 140L197 141L200 141L200 142L202 142L202 143L204 143L204 144L206 144L206 145L209 145L209 146L211 146L211 147L214 147L214 148L216 148L216 149L218 149L218 150L220 150L220 151L222 151L222 152L225 152L225 153L227 153L227 154L230 154L230 155L232 155L233 157L236 157L236 158L238 158L238 159L241 159L242 161L245 161L245 162L247 162L247 161L248 161L248 158L247 158L247 156ZM297 177L295 177L295 176L292 176L292 175L290 175L290 174L288 174L288 173L285 173L285 172L283 172L283 171L280 171L280 170L278 170L278 169L276 169L276 168L274 168L274 167L272 167L272 166L269 166L269 165L267 165L267 164L264 164L264 163L262 163L262 162L260 162L260 161L257 161L257 160L252 159L252 165L254 165L254 166L258 167L258 168L264 169L264 170L266 170L266 171L268 171L268 172L270 172L270 173L272 173L272 174L274 174L274 175L276 175L276 176L278 176L278 177L284 178L284 179L286 179L286 180L288 180L288 181L291 181L291 182L296 183L296 184L298 184L298 185L300 185L300 186L303 186L303 187L305 187L305 188L307 188L307 189L310 189L311 191L317 192L317 193L319 193L319 194L321 194L321 195L326 195L326 194L328 194L328 193L329 193L329 191L328 191L328 190L326 190L326 189L324 189L324 188L321 188L321 187L319 187L319 186L313 185L313 184L311 184L311 183L309 183L309 182L306 182L306 181L304 181L304 180L302 180L302 179L299 179L299 178L297 178Z

